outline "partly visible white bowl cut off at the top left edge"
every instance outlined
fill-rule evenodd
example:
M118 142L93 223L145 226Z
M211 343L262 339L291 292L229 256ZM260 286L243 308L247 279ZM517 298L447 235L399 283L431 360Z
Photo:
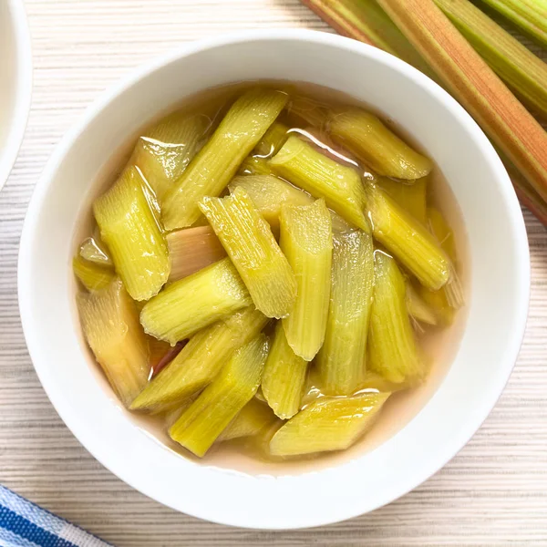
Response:
M0 189L25 134L32 89L30 35L22 0L0 0Z

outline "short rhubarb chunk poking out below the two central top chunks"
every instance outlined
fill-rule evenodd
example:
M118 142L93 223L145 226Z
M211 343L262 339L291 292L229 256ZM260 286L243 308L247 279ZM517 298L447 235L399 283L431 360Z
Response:
M263 397L279 418L292 418L300 409L308 363L288 345L284 327L275 327L262 380Z

